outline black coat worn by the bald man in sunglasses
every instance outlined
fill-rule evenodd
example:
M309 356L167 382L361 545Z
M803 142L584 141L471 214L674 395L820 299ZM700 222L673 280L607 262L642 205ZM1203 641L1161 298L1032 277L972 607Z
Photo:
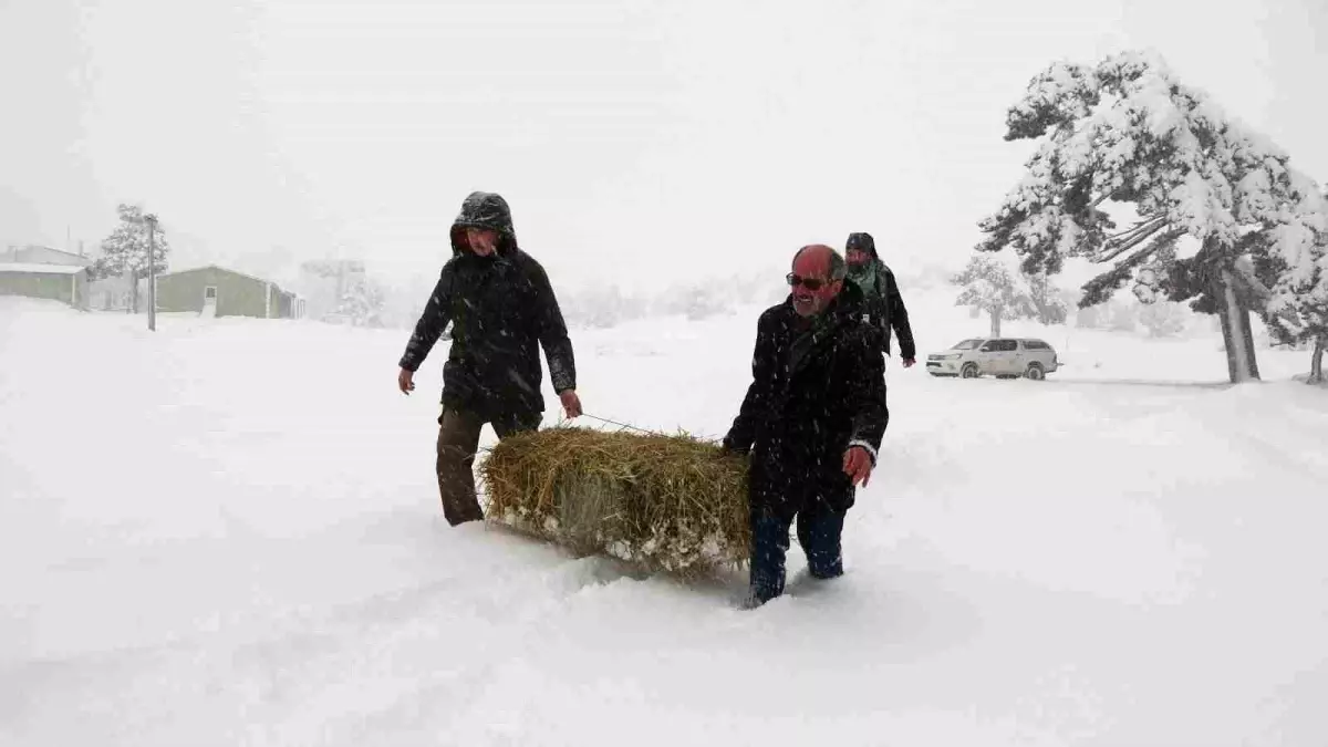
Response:
M863 322L862 290L846 280L809 326L791 296L757 323L752 384L724 447L752 452L752 508L795 513L813 501L854 502L843 455L861 445L872 461L890 421L884 359Z

